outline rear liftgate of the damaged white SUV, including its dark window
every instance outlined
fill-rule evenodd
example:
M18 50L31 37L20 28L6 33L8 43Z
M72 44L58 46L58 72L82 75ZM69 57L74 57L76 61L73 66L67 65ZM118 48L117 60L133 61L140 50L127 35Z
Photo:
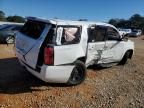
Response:
M28 20L16 35L16 50L21 60L36 68L40 47L48 33L50 25Z

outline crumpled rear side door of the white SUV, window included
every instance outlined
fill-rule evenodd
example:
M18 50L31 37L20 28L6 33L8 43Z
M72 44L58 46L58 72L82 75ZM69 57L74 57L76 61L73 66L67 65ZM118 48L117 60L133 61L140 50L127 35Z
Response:
M89 39L87 48L87 66L102 60L104 51L106 28L105 26L92 26L89 28Z

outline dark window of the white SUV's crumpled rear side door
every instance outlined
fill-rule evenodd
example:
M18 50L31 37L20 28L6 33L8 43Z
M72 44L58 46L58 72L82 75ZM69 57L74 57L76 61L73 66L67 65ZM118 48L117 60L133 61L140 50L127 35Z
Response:
M105 40L106 29L102 26L91 27L89 30L89 42L99 42Z

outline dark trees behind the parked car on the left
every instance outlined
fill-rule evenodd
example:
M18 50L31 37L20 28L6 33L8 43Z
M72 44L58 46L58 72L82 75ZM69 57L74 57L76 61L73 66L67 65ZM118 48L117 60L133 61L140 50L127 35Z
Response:
M6 16L5 13L0 10L0 21L24 23L25 18L18 16L18 15Z

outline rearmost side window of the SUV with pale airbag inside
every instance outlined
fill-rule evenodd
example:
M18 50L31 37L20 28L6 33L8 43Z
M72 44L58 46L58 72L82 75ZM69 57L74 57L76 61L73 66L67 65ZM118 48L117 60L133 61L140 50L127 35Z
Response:
M61 45L77 44L80 42L80 27L62 27Z

